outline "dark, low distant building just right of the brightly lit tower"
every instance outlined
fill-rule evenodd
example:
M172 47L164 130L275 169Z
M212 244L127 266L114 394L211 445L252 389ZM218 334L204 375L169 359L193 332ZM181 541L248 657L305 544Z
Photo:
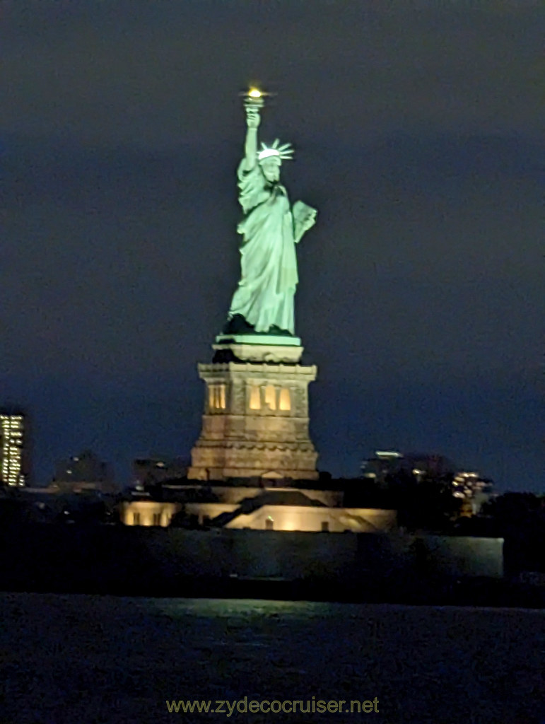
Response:
M91 450L84 450L56 463L52 485L66 492L112 492L115 489L114 473L109 463L103 462Z

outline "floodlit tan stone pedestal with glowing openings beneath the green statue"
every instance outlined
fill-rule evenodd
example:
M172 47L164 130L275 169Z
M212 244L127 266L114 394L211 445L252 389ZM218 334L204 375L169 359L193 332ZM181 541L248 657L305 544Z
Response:
M308 434L316 366L300 365L303 348L290 342L216 340L215 358L227 361L198 365L205 409L188 478L318 478Z

